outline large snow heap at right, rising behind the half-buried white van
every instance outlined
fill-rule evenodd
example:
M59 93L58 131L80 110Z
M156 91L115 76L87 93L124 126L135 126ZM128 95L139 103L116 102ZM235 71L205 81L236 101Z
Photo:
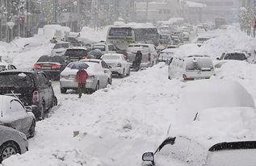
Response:
M255 50L256 39L246 33L239 31L236 27L229 27L227 31L208 31L205 35L213 35L212 39L206 41L199 48L202 56L220 57L223 52L233 52L236 50L253 52Z

